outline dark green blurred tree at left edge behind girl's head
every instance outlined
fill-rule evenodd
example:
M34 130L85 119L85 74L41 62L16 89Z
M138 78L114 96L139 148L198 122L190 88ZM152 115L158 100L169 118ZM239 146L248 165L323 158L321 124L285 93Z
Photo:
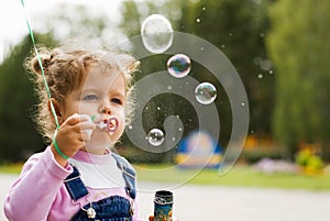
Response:
M35 35L40 44L53 46L52 35ZM23 68L32 51L26 35L15 45L0 66L0 159L20 161L44 148L33 123L34 86Z

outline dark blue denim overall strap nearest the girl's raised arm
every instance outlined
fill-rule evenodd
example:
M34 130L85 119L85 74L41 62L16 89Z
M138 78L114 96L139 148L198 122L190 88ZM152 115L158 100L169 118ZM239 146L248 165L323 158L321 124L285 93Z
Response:
M78 169L75 166L73 166L73 168L74 172L64 179L64 184L72 199L76 201L81 197L87 196L88 190L80 179L80 173Z

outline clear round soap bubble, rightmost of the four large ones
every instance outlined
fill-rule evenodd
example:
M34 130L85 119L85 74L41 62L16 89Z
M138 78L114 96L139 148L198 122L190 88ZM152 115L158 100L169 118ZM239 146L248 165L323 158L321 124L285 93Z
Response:
M210 104L217 98L217 89L210 82L201 82L196 87L195 96L199 103Z

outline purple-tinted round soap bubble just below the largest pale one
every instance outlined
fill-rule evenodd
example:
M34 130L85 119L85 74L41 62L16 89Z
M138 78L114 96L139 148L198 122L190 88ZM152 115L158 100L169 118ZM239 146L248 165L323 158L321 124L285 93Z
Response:
M191 62L187 55L177 54L167 60L167 70L176 78L183 78L187 76L190 71L190 68Z

